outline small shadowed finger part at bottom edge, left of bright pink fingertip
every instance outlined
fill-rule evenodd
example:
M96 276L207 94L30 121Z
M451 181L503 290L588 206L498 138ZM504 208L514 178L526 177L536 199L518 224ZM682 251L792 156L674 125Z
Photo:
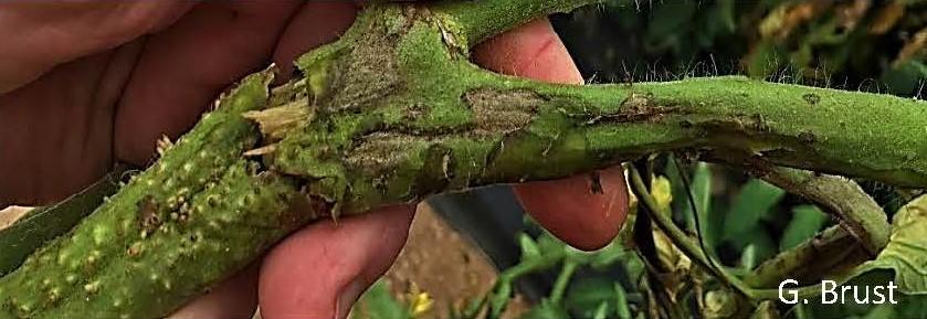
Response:
M257 309L257 272L254 263L243 272L225 279L208 294L178 309L168 318L252 318Z

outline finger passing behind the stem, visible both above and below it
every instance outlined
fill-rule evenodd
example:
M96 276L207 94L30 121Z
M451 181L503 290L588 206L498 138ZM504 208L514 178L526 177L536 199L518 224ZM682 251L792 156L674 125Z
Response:
M581 84L582 76L547 19L481 44L474 59L501 73L539 81ZM628 210L620 169L600 173L601 192L588 176L515 187L525 210L555 236L582 249L607 245L618 234ZM597 185L598 188L598 185Z

